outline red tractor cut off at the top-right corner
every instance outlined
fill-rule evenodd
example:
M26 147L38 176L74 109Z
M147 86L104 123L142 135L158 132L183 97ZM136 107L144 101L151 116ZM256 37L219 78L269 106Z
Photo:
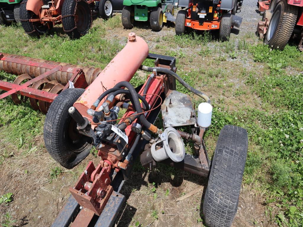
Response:
M268 2L268 1L266 1ZM264 2L259 2L260 6ZM283 50L291 37L300 38L299 50L303 51L303 1L272 0L258 22L258 34L272 49Z

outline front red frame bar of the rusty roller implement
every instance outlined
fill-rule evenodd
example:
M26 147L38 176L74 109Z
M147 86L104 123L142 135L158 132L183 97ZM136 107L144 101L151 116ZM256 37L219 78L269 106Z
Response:
M2 89L2 90L9 91L12 89L17 89L19 86L21 86L21 85L9 83L6 81L0 81L0 89ZM30 98L39 99L39 100L49 102L49 103L52 103L54 101L55 97L58 96L57 94L52 94L50 92L34 89L31 87L22 88L20 91L17 92L17 94L21 94L23 96L30 97Z

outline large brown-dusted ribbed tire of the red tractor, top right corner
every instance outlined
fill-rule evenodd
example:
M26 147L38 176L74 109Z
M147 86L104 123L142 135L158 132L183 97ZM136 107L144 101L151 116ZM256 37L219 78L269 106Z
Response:
M271 29L274 29L275 14L277 14L278 24L275 28L274 34L270 37ZM291 34L294 31L296 21L298 17L298 7L288 5L286 0L281 0L276 6L274 13L268 25L268 29L265 35L265 44L268 44L272 49L284 50L286 44L291 38Z

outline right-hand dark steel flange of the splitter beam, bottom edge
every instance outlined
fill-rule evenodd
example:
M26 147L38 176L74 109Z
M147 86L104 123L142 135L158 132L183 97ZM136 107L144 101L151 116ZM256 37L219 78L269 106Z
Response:
M112 227L125 201L125 196L113 192L103 209L95 227Z

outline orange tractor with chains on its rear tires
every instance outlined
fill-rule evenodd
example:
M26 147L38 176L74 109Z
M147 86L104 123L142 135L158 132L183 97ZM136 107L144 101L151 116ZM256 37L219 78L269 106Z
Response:
M93 15L99 13L108 19L114 10L122 8L114 9L112 0L24 0L20 18L24 31L30 36L44 35L62 23L65 33L74 39L88 32Z

